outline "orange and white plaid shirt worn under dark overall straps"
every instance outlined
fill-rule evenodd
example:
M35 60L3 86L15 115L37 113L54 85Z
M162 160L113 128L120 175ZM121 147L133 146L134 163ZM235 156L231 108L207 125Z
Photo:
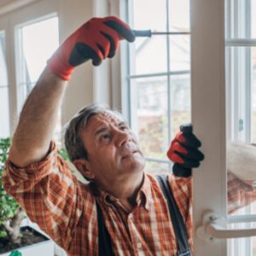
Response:
M169 175L168 180L193 249L191 178ZM238 182L234 179L235 184ZM80 183L58 156L55 143L51 143L44 160L31 166L17 168L8 161L3 185L32 222L69 255L98 254L96 201L102 208L116 255L177 255L168 206L153 176L144 175L137 207L129 213L113 195Z

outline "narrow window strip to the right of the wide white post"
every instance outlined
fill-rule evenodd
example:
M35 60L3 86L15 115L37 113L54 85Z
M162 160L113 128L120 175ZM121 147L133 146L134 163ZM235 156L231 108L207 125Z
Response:
M228 139L256 142L256 2L226 0L226 84ZM256 214L256 203L242 208L236 215ZM236 228L253 228L253 224L233 224ZM230 240L230 255L255 255L255 238Z

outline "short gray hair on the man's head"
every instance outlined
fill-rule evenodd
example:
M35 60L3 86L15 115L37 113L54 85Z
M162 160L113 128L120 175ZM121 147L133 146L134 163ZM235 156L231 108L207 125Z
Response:
M118 116L119 119L124 120L121 113L115 110L111 110L108 105L103 104L91 104L84 108L81 108L73 118L67 123L65 131L65 147L67 148L67 154L69 159L89 159L88 151L84 147L82 138L80 137L79 131L86 128L91 117L99 113L113 113Z

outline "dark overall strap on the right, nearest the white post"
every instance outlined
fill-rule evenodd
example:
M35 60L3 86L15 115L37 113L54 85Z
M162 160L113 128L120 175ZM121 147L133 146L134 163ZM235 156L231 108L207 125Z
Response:
M157 175L156 177L160 183L160 189L162 190L163 194L166 197L166 201L168 202L169 212L172 219L172 226L175 232L175 236L177 238L177 255L192 255L189 247L188 232L184 224L183 217L177 207L177 203L172 195L172 189L170 188L167 178L164 175Z

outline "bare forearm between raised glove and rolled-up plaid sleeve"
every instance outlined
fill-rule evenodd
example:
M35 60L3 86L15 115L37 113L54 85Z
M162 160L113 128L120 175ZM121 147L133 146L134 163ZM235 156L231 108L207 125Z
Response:
M67 81L44 69L20 113L9 152L16 166L28 166L47 154L66 87Z

